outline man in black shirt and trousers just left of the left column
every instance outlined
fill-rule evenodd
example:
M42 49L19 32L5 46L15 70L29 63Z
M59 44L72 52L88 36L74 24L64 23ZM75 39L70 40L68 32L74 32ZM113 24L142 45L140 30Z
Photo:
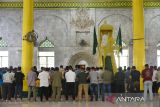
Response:
M24 74L21 71L21 67L18 67L18 70L15 73L14 78L15 78L15 84L16 84L15 100L17 100L18 95L22 100L22 89L23 89Z

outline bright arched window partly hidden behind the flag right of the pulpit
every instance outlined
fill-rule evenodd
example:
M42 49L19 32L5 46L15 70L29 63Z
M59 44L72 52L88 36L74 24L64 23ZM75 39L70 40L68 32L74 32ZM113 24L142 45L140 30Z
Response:
M126 45L126 43L124 41L122 41L122 54L119 53L119 60L120 60L120 65L121 67L128 67L129 66L129 49ZM114 50L114 55L115 55L115 61L116 61L116 65L118 67L118 55L117 55L117 51Z

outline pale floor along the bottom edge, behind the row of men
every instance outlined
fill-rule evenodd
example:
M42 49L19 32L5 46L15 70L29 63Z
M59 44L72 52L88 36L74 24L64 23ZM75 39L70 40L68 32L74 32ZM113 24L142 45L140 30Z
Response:
M110 102L0 102L0 107L160 107L160 101L141 103Z

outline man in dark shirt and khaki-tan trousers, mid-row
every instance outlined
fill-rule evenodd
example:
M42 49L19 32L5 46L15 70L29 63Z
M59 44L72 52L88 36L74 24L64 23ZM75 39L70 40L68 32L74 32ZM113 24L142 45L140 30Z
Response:
M82 91L84 89L85 99L86 99L86 101L88 101L88 84L87 84L88 74L85 73L85 68L81 68L81 72L77 75L77 79L79 82L78 99L79 99L79 101L82 100Z

